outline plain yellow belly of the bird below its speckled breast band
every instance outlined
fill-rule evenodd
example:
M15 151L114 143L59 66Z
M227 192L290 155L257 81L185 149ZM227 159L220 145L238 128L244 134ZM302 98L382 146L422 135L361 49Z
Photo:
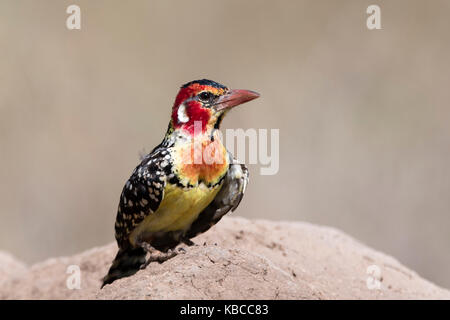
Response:
M187 230L220 188L221 185L208 189L199 184L195 188L182 189L168 183L158 210L137 226L130 234L130 242L134 244L142 234Z

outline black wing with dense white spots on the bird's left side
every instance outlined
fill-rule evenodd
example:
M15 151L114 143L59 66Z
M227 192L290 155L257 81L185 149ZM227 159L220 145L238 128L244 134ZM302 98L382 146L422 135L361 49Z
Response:
M119 247L128 246L133 229L158 209L164 198L169 167L169 152L156 147L134 169L120 195L117 210L115 236Z

